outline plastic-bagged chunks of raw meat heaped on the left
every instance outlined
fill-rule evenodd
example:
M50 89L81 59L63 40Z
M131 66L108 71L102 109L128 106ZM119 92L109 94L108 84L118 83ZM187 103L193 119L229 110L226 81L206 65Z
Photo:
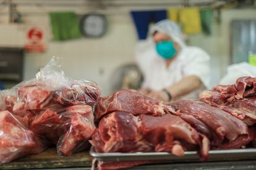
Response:
M56 145L60 155L83 150L95 131L93 109L100 89L67 78L56 59L1 94L0 164Z

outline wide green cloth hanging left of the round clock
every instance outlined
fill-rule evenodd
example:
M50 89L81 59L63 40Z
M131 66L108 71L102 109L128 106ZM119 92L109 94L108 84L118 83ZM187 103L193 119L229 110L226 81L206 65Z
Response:
M64 41L80 38L79 17L74 12L50 12L53 39Z

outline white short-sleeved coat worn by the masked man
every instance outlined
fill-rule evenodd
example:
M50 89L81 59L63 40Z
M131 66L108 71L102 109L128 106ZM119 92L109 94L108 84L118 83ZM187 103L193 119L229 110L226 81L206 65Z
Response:
M140 42L136 49L136 60L143 73L143 88L160 91L186 76L195 75L204 86L180 99L198 99L198 94L209 87L210 57L198 47L183 47L169 67L164 59L156 54L153 42Z

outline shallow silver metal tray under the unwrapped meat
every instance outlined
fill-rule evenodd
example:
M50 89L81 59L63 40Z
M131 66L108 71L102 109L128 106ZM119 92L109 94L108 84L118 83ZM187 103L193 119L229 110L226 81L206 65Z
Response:
M175 156L168 152L135 152L135 153L98 153L90 149L90 155L98 161L145 161L163 160L168 162L200 161L195 151L185 152L184 156ZM255 160L256 148L235 150L210 150L208 161Z

